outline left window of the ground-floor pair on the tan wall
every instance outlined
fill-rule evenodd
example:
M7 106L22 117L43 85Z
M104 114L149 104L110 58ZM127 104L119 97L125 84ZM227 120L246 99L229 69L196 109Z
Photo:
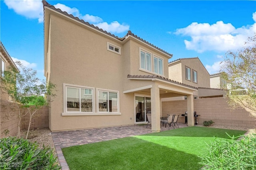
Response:
M67 86L66 102L68 112L93 112L93 90Z

